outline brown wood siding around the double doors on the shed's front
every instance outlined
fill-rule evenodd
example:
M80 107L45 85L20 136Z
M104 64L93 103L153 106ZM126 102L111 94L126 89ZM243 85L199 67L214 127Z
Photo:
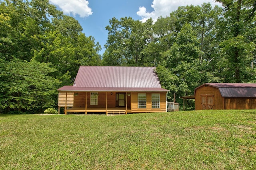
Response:
M212 86L202 86L198 89L196 89L195 92L195 105L196 105L196 110L202 110L202 96L213 96L213 103L214 106L212 109L224 109L223 105L223 98L220 94L220 91L218 88L212 87Z

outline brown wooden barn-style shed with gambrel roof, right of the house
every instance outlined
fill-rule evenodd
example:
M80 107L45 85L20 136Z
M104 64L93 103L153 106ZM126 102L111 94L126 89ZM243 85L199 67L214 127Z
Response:
M205 83L194 98L196 110L256 109L256 83Z

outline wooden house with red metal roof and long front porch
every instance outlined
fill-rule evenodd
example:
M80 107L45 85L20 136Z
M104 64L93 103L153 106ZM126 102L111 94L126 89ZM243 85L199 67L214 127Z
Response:
M67 112L127 114L166 112L166 94L155 67L80 66L73 86L58 89Z

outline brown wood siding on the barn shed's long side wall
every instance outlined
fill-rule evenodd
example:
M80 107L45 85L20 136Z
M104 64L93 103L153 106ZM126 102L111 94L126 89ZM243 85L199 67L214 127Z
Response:
M225 109L256 109L256 98L224 98Z

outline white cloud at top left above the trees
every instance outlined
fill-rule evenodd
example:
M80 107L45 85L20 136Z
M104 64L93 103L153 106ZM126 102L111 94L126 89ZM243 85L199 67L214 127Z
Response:
M87 0L49 0L64 12L64 14L78 14L80 17L87 17L92 15L92 8L90 8Z

